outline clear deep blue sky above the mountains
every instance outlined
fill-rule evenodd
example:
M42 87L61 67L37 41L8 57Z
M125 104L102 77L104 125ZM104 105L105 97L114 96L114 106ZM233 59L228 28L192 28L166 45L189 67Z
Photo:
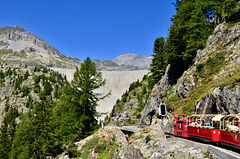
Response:
M175 0L5 0L0 27L23 26L62 54L113 60L122 53L152 55L167 37Z

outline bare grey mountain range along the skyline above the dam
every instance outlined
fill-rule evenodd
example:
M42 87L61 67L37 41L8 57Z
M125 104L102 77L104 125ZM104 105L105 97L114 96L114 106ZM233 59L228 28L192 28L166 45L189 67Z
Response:
M77 58L61 54L44 39L19 26L0 28L0 57L12 67L28 65L74 68L81 63ZM151 59L135 54L123 54L113 61L94 62L99 70L146 70L149 69Z

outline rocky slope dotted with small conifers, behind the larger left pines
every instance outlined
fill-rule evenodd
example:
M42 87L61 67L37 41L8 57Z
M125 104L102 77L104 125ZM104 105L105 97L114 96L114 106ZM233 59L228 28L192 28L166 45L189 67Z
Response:
M10 109L26 113L41 95L58 100L66 77L47 68L9 68L0 63L0 123Z

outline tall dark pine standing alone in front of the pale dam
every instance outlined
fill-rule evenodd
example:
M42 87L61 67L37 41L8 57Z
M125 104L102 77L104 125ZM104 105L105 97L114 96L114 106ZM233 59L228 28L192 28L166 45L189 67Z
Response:
M94 90L105 85L106 80L102 79L102 73L98 72L95 63L89 57L81 64L81 68L76 68L71 85L80 94L79 103L82 106L83 134L88 135L96 126L96 106L97 102L104 99L100 93Z

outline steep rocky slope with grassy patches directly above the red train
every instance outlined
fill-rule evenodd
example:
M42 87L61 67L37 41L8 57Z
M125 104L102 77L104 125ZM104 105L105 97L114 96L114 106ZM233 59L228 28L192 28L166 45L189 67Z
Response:
M141 123L167 104L174 113L240 113L240 25L220 24L180 78L168 66L142 112Z

